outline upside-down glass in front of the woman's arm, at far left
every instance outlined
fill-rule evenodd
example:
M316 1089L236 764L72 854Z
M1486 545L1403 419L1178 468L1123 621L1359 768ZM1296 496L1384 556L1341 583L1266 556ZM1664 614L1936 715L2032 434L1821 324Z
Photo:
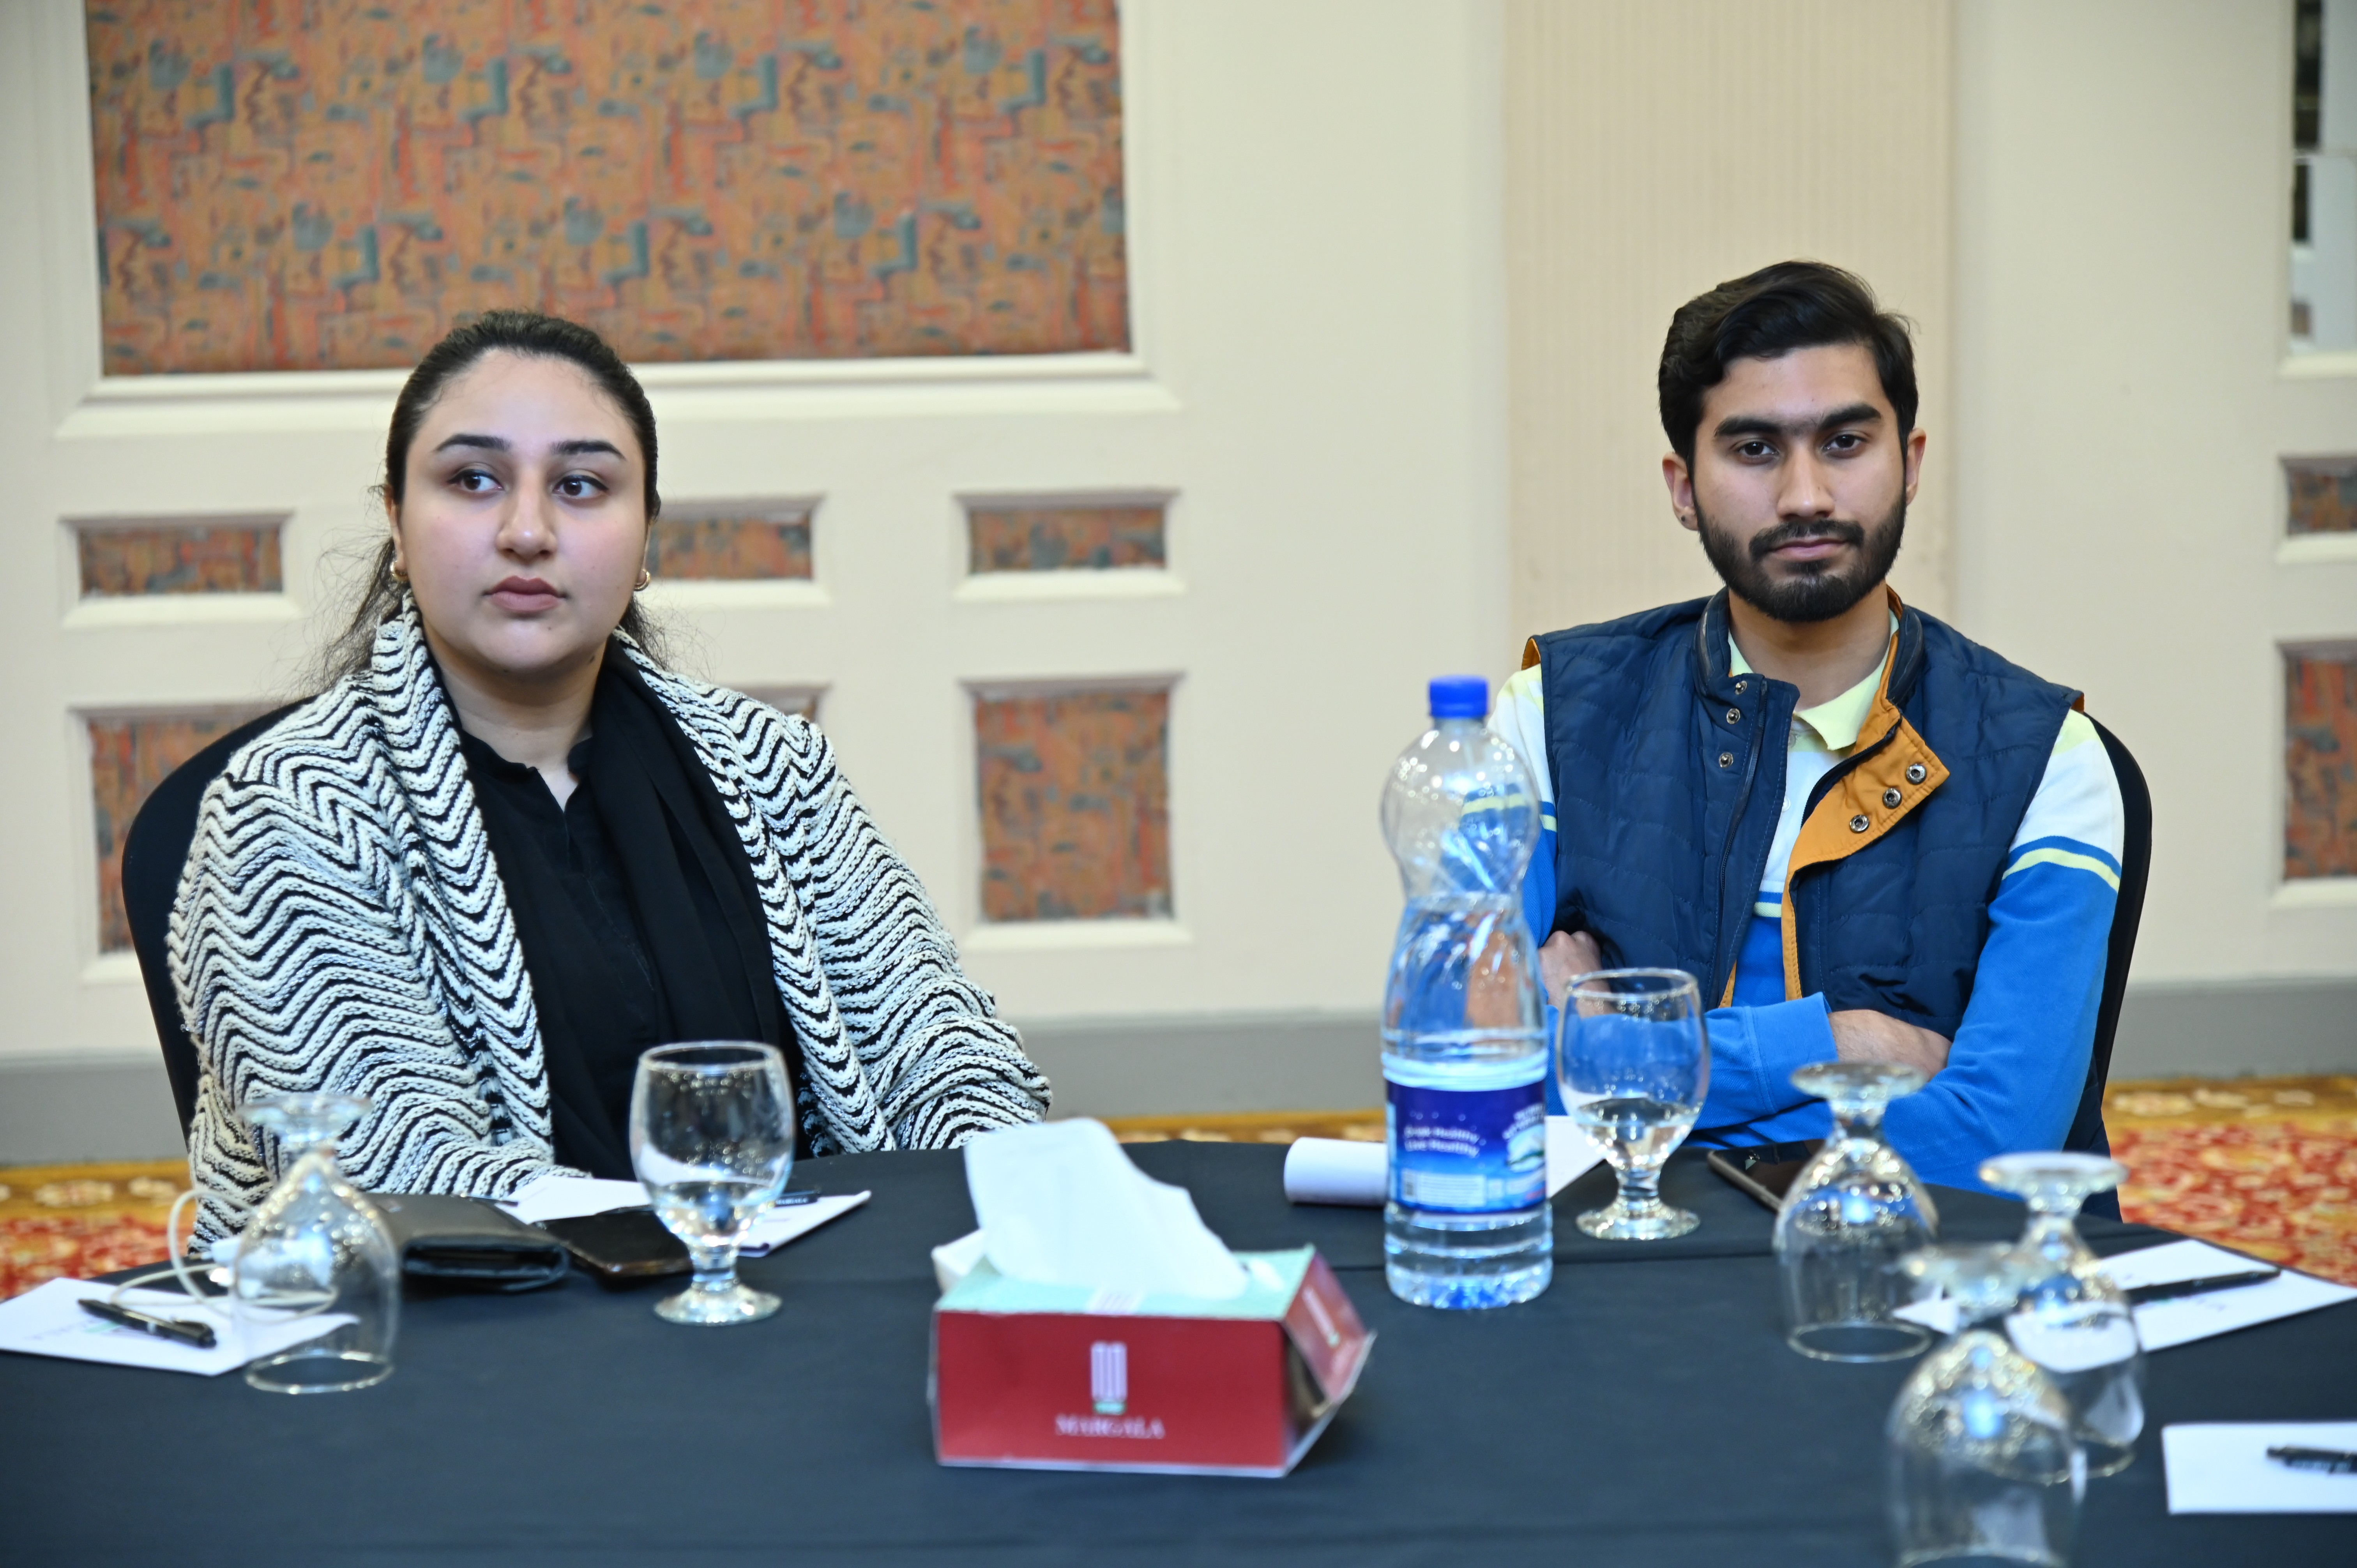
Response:
M313 1316L335 1325L247 1363L245 1382L269 1394L339 1394L394 1375L401 1254L384 1214L335 1167L337 1134L368 1108L356 1094L276 1094L238 1108L247 1129L290 1155L285 1179L245 1221L229 1266L238 1335Z

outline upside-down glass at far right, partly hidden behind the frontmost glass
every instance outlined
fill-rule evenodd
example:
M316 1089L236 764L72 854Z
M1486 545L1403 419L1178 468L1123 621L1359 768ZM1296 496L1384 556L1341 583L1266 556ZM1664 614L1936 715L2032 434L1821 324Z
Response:
M2135 1311L2072 1224L2079 1205L2126 1181L2128 1167L2091 1153L2020 1153L1985 1160L1980 1179L2029 1205L2020 1252L2039 1259L2006 1320L2013 1349L2046 1370L2079 1419L2086 1474L2117 1476L2145 1431L2145 1353Z

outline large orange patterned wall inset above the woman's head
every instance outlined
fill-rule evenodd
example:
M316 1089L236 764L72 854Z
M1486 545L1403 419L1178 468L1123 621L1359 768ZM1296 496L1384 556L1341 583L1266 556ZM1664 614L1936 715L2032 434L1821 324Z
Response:
M90 0L108 375L1129 347L1115 0Z

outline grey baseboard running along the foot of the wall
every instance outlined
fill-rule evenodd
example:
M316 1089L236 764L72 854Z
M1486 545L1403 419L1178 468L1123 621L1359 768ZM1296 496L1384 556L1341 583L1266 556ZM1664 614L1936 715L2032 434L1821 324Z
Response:
M1358 1111L1384 1101L1376 1016L1056 1019L1023 1028L1056 1115ZM2112 1078L2357 1073L2357 979L2131 986ZM0 1165L181 1153L163 1061L0 1059Z

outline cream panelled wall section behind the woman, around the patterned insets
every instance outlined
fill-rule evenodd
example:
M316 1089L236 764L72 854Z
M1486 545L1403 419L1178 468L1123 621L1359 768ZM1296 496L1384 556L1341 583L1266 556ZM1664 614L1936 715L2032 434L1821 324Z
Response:
M1016 1019L1372 1019L1398 917L1384 766L1424 679L1506 637L1499 21L1129 0L1124 26L1134 361L651 373L669 498L825 498L823 594L684 613L721 681L832 684L853 783ZM130 960L94 948L71 710L280 689L321 552L375 526L398 382L97 387L78 28L73 0L0 7L0 535L19 561L0 573L0 1061L153 1052ZM952 495L1138 486L1178 493L1183 592L955 592ZM207 509L292 509L292 606L75 611L59 519ZM966 681L1091 674L1181 677L1176 922L976 936Z

